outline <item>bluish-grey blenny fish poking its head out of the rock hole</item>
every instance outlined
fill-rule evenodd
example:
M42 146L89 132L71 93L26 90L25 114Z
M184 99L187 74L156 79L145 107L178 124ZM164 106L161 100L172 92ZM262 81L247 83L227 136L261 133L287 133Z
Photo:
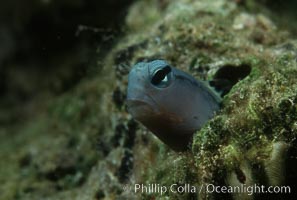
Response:
M175 151L190 147L193 134L220 109L220 102L207 82L164 60L139 62L129 73L128 112Z

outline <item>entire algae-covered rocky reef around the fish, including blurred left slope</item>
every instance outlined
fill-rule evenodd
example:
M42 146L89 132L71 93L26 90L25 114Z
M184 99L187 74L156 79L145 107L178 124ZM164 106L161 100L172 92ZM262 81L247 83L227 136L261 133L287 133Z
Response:
M125 34L97 58L100 70L0 128L0 199L293 198L296 29L281 26L266 2L133 3ZM126 111L131 66L160 58L201 80L234 82L188 152L169 149ZM141 192L136 184L197 190ZM290 186L291 194L206 188L242 184Z

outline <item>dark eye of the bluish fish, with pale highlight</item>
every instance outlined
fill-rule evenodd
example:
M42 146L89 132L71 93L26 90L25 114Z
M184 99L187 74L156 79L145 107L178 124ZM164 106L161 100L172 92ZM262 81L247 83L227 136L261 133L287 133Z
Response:
M171 72L170 66L157 69L152 76L151 83L154 86L157 86L160 88L169 86L170 79L171 79L170 72Z

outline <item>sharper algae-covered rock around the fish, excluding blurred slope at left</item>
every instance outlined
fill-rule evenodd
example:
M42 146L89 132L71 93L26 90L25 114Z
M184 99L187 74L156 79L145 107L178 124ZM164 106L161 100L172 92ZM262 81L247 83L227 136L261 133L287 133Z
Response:
M149 145L134 145L134 169L126 181L132 193L145 199L289 198L285 193L294 190L296 178L296 41L264 14L248 13L231 1L174 1L159 9L159 19L139 26L139 32L130 23L133 32L119 43L113 56L117 90L125 93L123 83L134 63L157 58L204 80L216 78L220 70L220 76L235 82L243 79L194 135L191 153L174 153L139 127L136 139L149 137ZM151 148L145 156L153 154L154 160L137 156L145 148ZM139 182L144 189L135 186ZM196 190L187 190L187 184ZM185 190L170 191L172 185ZM241 192L231 191L242 185ZM264 191L252 191L255 185ZM213 186L220 187L215 191ZM268 195L269 186L290 188Z

